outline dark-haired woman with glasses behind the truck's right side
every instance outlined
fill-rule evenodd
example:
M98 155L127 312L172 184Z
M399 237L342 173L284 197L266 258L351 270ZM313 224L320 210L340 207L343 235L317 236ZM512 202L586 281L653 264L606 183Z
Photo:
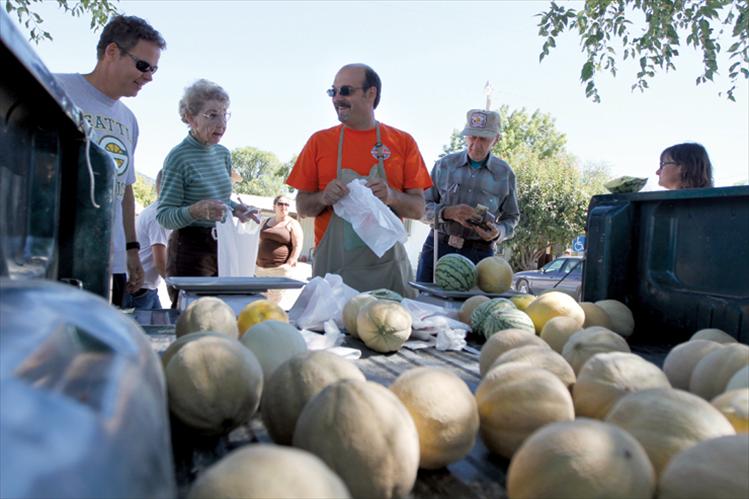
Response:
M658 185L666 189L691 189L713 186L713 167L707 151L700 144L676 144L661 153L655 172Z

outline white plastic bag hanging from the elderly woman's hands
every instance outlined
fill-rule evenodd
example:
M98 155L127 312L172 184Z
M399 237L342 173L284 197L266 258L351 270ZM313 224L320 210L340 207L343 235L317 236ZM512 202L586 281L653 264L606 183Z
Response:
M227 215L222 222L216 222L215 238L218 241L219 277L253 277L257 246L260 241L260 226L252 220L240 222Z

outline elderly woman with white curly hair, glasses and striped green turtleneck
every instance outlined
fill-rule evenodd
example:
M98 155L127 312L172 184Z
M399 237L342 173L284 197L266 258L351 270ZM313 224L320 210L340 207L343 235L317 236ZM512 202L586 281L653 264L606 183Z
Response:
M185 89L179 114L190 130L164 160L158 222L172 229L168 276L216 276L218 256L211 229L231 209L245 222L259 221L257 209L231 195L231 153L219 145L229 120L229 95L219 85L198 80ZM172 308L177 305L170 290Z

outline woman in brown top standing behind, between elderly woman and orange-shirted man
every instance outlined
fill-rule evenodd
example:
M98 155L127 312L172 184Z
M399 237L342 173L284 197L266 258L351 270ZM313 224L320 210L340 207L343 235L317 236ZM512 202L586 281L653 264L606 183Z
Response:
M260 244L257 251L258 277L289 277L302 252L304 233L302 226L289 215L289 198L284 195L273 199L273 216L260 226ZM279 303L281 290L268 291L268 299Z

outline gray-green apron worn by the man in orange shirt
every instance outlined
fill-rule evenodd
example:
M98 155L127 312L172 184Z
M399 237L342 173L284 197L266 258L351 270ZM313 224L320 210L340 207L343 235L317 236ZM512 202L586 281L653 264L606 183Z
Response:
M342 167L343 161L343 132L338 139L338 160L336 178L345 184L360 178L354 170ZM382 141L380 140L380 124L375 123L377 133L377 164L372 166L367 178L380 177L387 181ZM408 261L406 248L401 243L395 243L382 258L378 258L369 246L361 240L349 222L331 213L330 223L325 230L320 244L315 251L315 262L312 267L315 276L325 276L327 273L338 274L343 282L358 291L386 288L396 291L407 298L414 298L416 290L408 281L413 279L413 270Z

